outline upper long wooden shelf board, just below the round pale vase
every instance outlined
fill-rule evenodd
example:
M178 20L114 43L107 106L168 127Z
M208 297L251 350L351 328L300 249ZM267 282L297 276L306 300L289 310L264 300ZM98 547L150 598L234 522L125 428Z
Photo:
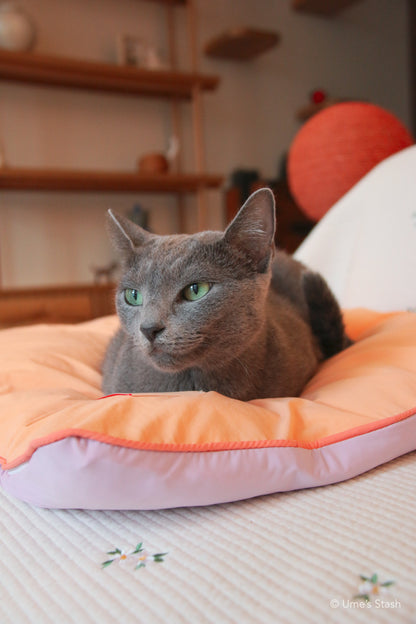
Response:
M149 70L46 54L0 51L0 79L72 89L190 98L193 89L213 90L219 77Z

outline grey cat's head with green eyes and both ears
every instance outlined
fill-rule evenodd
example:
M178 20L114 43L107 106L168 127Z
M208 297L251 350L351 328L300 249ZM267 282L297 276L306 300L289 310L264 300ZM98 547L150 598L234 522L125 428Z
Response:
M256 340L274 253L275 206L253 193L225 232L158 236L109 211L122 259L117 312L156 368L218 369Z

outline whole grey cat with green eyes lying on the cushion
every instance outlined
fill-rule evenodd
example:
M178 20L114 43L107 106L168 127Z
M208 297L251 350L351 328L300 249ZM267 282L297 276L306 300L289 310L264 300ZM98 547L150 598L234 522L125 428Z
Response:
M158 236L111 211L108 226L123 272L106 394L295 396L348 345L324 279L275 250L269 189L251 195L225 232Z

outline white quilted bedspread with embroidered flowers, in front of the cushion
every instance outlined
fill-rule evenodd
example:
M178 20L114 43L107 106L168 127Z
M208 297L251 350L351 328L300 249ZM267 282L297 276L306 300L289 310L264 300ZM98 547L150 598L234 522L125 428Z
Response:
M416 623L415 494L416 453L205 508L46 510L1 492L0 624ZM140 542L168 554L136 570L137 555L106 554ZM374 574L394 584L359 589Z

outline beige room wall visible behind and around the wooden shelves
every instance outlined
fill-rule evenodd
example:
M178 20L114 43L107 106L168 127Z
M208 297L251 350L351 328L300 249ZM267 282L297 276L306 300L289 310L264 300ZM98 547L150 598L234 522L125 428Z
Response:
M167 55L163 11L137 0L22 0L37 23L36 50L114 62L116 36L155 41ZM201 55L221 86L204 96L208 169L237 167L274 177L300 124L296 110L317 87L366 99L410 125L406 0L362 0L336 19L290 10L290 0L197 0L199 43L239 25L272 28L280 45L250 63ZM238 7L238 12L236 11ZM176 9L179 60L189 69L183 9ZM137 157L165 149L169 105L153 99L44 89L0 82L0 138L17 166L133 170ZM183 106L184 162L190 167L189 105ZM163 122L160 123L160 119ZM222 196L210 192L211 227L222 227ZM140 202L160 233L178 227L173 198L99 193L0 191L3 286L88 282L112 258L105 211ZM189 229L195 228L188 200Z

